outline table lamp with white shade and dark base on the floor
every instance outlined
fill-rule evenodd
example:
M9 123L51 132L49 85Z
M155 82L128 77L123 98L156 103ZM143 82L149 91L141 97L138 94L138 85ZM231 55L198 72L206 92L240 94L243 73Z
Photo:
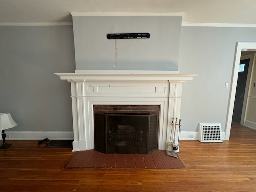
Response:
M16 125L17 124L12 119L12 116L10 113L0 113L0 130L2 130L2 138L3 138L3 144L0 146L0 149L6 149L12 145L12 144L5 143L6 134L4 133L4 130L15 127Z

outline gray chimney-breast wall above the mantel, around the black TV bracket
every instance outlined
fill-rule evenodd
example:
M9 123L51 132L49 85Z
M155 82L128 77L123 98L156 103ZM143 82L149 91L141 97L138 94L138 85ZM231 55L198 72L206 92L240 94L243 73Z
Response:
M180 16L73 16L76 70L178 70ZM108 40L108 33L149 32Z

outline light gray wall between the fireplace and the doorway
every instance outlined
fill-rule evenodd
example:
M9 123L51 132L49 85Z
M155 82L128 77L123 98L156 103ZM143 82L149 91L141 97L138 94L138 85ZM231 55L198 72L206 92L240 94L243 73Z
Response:
M256 28L182 26L180 73L198 74L183 84L182 131L197 131L199 122L220 122L225 130L229 88L237 42L256 42Z

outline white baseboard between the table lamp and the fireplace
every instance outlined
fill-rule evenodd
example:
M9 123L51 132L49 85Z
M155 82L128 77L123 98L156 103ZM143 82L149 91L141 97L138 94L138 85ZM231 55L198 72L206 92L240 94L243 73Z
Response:
M6 131L6 140L73 140L73 132L61 131Z

